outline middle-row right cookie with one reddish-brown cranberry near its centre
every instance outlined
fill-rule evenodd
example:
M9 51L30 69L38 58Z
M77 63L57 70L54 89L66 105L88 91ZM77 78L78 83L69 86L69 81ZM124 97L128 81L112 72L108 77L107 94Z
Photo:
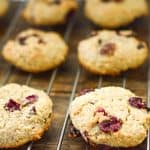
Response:
M80 64L92 73L118 75L144 63L148 48L132 31L97 31L79 43Z

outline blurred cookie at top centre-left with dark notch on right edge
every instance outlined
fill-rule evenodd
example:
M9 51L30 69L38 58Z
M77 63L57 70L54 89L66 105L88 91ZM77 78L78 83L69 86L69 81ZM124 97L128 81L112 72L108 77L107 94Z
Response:
M34 25L63 24L77 7L76 0L29 0L23 17Z

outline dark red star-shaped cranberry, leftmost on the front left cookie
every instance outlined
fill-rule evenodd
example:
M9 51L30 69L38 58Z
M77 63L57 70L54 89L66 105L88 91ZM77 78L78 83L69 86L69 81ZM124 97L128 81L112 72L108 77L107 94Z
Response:
M13 99L10 99L9 102L5 104L4 108L5 110L13 112L15 110L20 110L20 104Z

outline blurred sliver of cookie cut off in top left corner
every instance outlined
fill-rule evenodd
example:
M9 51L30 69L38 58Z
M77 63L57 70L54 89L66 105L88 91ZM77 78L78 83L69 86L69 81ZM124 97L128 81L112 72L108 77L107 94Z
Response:
M5 13L8 10L8 7L9 7L8 0L1 0L0 1L0 17L5 15Z

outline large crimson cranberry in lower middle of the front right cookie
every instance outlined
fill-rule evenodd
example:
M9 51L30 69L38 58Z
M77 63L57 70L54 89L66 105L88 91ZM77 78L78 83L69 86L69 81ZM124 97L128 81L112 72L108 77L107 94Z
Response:
M110 119L104 120L99 123L99 128L105 133L117 132L122 125L122 121L116 117L111 116Z

